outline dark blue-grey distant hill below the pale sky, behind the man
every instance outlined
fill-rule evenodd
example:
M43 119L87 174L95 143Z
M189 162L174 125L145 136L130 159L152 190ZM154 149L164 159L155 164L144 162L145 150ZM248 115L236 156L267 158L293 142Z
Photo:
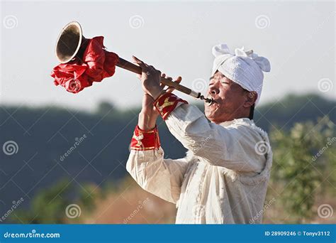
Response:
M336 102L318 95L288 95L257 107L254 121L269 131L289 129L295 122L328 115L336 122ZM200 107L203 110L203 107ZM0 152L0 217L20 198L27 207L38 190L60 178L102 185L124 177L130 139L140 109L121 111L102 102L94 113L58 107L0 109L0 145L17 144L17 153ZM181 158L186 150L159 120L159 134L166 158ZM7 143L8 144L8 143ZM13 143L12 143L13 144ZM6 222L6 221L5 221Z

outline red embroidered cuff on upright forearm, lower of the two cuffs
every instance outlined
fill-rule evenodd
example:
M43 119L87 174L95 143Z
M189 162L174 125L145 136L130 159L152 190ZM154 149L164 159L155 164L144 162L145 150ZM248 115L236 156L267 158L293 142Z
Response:
M159 148L159 146L159 131L157 126L149 131L141 130L138 125L135 126L133 137L130 141L130 149L144 151Z

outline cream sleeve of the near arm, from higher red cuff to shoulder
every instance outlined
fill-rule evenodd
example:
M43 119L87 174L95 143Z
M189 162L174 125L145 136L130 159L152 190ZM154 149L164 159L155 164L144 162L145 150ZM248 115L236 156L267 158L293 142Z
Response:
M213 166L257 173L264 168L266 159L254 151L262 136L247 126L225 128L209 123L203 112L191 104L175 108L166 124L185 148Z

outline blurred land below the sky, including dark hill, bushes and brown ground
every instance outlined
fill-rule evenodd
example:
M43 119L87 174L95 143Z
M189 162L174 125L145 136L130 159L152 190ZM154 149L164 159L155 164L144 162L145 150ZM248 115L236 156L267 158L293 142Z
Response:
M335 107L289 95L256 110L274 151L264 222L336 222ZM174 223L175 205L125 170L138 112L107 102L95 114L1 107L0 144L16 150L0 153L0 223ZM162 121L159 134L166 158L184 156Z

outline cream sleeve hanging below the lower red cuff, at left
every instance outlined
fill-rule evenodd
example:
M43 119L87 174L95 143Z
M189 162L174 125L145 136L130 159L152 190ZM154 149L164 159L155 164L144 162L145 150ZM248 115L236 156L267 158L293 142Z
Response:
M147 151L131 150L126 169L143 189L176 203L187 164L185 158L164 159L164 151L159 147Z

